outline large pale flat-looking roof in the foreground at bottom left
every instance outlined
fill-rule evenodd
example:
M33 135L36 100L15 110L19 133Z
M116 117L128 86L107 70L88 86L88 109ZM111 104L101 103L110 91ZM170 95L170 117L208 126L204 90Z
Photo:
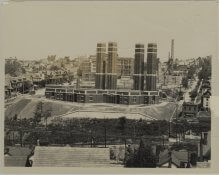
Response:
M37 146L33 167L109 167L109 148Z

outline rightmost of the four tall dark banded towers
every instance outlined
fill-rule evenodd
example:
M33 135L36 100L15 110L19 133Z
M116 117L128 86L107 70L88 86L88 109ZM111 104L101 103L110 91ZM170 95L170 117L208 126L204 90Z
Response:
M157 44L149 43L147 49L147 75L146 75L146 90L157 90Z

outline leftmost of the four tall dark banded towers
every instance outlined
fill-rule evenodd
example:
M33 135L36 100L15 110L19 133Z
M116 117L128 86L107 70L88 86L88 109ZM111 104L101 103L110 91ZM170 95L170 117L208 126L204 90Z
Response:
M95 88L105 89L106 43L97 43Z

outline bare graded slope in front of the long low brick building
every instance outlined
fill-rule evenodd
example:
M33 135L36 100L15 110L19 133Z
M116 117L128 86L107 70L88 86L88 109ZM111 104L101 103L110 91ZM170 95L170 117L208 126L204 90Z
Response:
M89 114L91 115L93 112L95 114L93 116L98 116L98 118L104 118L104 113L112 113L112 118L115 118L119 115L113 116L113 114L120 113L123 116L132 114L130 115L130 119L134 119L135 114L136 118L139 118L138 116L140 114L143 117L148 116L158 120L169 120L175 109L174 103L167 102L152 106L126 106L113 104L82 104L26 97L10 105L5 110L5 117L12 118L15 114L17 114L18 118L33 117L36 106L40 101L43 101L43 111L50 110L53 117L61 115L64 118L65 116L67 118L80 118L84 113L87 113L86 116L89 117ZM78 115L76 111L81 112L80 115ZM90 117L93 116L91 115Z

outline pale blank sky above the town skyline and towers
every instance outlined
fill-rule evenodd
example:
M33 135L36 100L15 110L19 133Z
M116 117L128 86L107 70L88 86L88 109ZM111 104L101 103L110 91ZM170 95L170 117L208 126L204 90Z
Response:
M119 56L158 45L166 60L171 39L179 59L215 55L217 5L203 1L22 1L0 6L0 58L75 58L115 41Z

